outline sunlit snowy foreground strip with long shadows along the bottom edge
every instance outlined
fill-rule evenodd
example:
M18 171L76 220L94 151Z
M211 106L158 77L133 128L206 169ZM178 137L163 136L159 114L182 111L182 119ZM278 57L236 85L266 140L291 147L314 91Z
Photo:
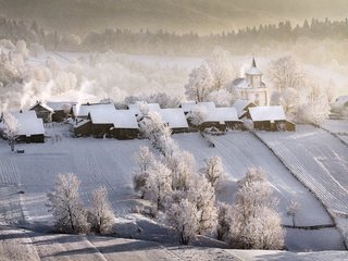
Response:
M347 260L346 251L297 253L287 251L185 247L113 237L41 234L10 227L0 229L0 252L1 261Z

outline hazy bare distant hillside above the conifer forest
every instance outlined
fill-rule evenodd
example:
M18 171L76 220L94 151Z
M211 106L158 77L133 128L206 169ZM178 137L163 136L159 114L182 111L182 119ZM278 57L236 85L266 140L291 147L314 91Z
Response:
M304 18L344 18L346 0L0 0L0 15L84 34L105 27L176 32L231 30Z

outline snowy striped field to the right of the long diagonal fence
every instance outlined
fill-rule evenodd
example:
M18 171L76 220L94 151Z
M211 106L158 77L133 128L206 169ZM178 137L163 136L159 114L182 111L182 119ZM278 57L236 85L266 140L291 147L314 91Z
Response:
M325 204L348 238L348 147L325 130L258 132L291 172Z

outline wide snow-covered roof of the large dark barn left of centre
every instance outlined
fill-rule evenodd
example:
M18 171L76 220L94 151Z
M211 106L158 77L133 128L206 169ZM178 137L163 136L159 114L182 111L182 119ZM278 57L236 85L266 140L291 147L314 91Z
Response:
M92 110L90 119L92 124L113 124L115 128L138 128L132 110L116 110L114 107L108 110Z

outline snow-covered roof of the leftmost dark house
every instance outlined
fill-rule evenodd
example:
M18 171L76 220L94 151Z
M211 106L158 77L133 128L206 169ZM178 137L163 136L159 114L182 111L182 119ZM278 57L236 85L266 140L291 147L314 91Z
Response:
M42 119L36 116L35 111L10 112L18 121L18 133L22 136L45 135Z

